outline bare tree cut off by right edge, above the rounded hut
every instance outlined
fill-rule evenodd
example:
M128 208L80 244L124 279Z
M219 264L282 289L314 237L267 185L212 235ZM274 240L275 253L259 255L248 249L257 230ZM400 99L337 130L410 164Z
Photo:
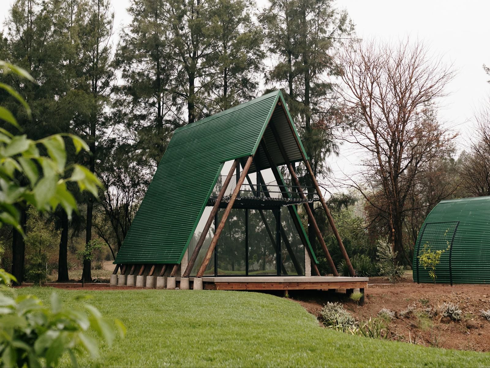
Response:
M490 101L475 114L476 140L464 155L461 177L466 195L490 195Z

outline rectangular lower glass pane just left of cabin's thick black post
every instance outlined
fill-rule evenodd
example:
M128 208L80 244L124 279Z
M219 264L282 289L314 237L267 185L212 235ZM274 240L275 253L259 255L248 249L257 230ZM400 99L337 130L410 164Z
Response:
M277 275L275 224L272 210L248 211L249 275Z

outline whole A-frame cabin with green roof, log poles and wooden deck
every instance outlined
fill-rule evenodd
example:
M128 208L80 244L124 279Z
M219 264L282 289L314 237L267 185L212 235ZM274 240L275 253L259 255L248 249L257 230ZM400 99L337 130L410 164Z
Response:
M296 162L314 187L299 183ZM309 201L325 210L350 277L338 276ZM320 276L299 206L333 276ZM148 288L350 290L368 281L354 277L280 91L173 133L114 263L112 284Z

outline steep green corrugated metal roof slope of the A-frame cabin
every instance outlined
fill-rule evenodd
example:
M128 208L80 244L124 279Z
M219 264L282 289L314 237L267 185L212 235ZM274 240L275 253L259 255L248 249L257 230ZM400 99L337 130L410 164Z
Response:
M180 263L223 163L255 153L278 99L274 91L173 133L115 263Z

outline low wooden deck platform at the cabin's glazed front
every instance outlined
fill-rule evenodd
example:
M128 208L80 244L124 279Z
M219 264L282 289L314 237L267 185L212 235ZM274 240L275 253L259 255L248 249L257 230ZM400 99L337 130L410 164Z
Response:
M190 281L193 281L191 278ZM208 290L328 290L367 289L367 277L334 276L234 276L202 277Z

